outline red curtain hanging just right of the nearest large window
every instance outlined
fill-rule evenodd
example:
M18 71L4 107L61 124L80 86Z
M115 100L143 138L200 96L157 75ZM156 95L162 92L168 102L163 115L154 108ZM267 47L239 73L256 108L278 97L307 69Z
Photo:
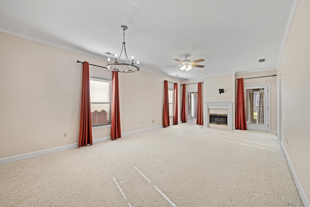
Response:
M112 73L111 140L121 138L120 97L118 91L118 72Z

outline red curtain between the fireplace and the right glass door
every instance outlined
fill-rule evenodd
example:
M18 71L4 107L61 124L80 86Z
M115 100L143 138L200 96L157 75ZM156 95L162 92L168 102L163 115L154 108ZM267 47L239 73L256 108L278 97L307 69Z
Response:
M246 105L244 100L243 79L238 79L236 101L236 129L247 130Z

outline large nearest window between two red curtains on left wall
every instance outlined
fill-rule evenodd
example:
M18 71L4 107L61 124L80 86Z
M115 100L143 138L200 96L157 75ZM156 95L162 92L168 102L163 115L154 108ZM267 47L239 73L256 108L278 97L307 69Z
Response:
M90 78L92 126L111 124L111 80Z

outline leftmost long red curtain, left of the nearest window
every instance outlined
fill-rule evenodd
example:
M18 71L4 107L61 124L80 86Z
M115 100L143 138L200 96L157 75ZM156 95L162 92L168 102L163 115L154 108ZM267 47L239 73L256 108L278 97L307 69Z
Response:
M93 144L91 96L89 86L89 64L83 64L81 116L79 123L78 147Z

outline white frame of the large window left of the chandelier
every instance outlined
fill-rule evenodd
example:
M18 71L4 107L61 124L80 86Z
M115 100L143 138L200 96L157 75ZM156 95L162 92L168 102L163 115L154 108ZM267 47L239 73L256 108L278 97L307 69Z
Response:
M109 102L90 102L91 103L91 110L92 110L92 104L109 104L109 123L107 124L96 124L93 125L92 128L98 128L98 127L110 127L111 126L111 107L112 107L112 79L104 78L104 77L98 77L98 76L90 76L90 90L91 90L91 81L97 80L102 82L109 82ZM91 100L90 100L91 101Z

